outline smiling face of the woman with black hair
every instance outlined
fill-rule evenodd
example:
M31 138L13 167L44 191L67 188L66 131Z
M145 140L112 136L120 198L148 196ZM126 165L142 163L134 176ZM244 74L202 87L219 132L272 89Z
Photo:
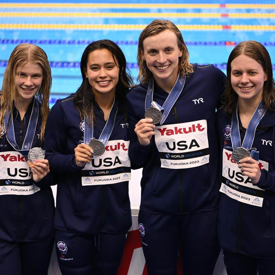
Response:
M116 57L115 57L116 59ZM119 67L107 49L89 53L87 69L84 70L95 96L114 95L119 81Z

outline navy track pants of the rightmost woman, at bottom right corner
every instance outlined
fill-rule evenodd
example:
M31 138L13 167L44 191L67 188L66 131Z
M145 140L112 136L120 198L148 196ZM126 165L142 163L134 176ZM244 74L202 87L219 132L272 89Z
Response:
M275 260L250 257L222 250L227 275L274 275ZM274 256L274 255L273 255Z

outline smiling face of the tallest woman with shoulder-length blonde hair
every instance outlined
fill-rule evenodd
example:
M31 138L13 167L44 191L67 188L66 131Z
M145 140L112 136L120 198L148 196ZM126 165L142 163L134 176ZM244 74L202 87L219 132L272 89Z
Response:
M178 77L178 58L182 56L176 34L166 29L145 38L142 45L142 57L158 86L167 83L174 86Z

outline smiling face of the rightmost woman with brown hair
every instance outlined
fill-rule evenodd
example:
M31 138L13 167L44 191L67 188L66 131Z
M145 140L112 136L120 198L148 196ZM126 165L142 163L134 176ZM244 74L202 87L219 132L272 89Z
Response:
M231 62L231 84L238 99L259 103L263 96L263 84L267 80L263 67L255 59L244 54Z

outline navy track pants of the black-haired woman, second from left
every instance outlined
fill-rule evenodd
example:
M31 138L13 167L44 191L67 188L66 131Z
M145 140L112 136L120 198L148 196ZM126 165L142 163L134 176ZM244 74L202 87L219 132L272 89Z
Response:
M115 275L126 233L76 235L56 230L56 254L62 275Z

